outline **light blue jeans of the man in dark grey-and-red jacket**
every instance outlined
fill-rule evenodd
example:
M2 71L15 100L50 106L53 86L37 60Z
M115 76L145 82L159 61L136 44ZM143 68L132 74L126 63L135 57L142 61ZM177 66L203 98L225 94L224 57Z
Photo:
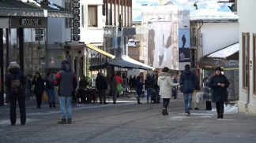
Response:
M72 97L59 97L59 105L62 112L62 119L72 119Z

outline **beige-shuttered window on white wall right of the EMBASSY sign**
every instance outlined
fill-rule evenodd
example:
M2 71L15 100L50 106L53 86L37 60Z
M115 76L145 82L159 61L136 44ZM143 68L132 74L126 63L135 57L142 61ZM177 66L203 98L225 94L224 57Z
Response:
M98 26L97 6L88 6L88 27Z

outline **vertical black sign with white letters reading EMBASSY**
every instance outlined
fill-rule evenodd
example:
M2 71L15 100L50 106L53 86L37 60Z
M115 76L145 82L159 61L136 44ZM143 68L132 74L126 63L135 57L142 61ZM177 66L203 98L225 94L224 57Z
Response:
M80 41L80 0L73 0L73 41Z

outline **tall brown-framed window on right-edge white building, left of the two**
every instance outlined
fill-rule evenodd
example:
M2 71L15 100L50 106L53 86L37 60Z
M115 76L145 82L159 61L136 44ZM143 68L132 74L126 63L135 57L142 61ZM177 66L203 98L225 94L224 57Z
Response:
M250 34L243 33L243 88L249 87Z

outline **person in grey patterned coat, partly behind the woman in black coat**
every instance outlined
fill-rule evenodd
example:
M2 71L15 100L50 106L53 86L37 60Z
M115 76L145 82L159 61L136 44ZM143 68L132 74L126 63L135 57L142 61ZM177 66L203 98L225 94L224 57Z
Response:
M202 80L202 82L204 83L203 99L206 101L205 110L212 110L212 91L211 88L209 87L210 79L210 75L205 75L205 78Z

